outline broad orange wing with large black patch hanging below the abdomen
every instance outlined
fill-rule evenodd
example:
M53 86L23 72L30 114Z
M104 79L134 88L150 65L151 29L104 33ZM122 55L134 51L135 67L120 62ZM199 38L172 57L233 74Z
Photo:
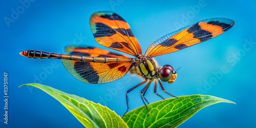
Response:
M130 69L131 62L100 63L62 60L67 71L84 83L108 83L122 78Z

